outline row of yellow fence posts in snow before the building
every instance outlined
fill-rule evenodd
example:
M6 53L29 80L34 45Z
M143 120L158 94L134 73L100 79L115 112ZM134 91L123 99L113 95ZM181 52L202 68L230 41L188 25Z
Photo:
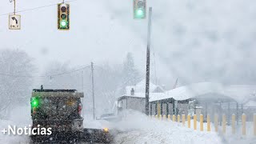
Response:
M190 115L186 115L185 114L182 114L182 121L181 121L181 116L178 115L177 118L176 118L176 115L172 115L172 118L171 118L171 115L161 115L161 114L157 114L157 115L151 115L150 116L151 118L158 118L159 120L162 120L162 121L170 121L172 120L173 122L180 122L182 123L182 126L185 126L185 123L187 122L187 127L190 128L191 127L191 117ZM200 114L199 115L199 130L200 131L203 131L204 130L204 119L203 119L203 115ZM256 136L256 114L253 114L253 134L254 136ZM194 127L194 130L198 130L198 115L194 114L193 116L193 127ZM240 132L240 134L242 135L246 135L246 114L242 114L242 131ZM231 120L231 131L232 131L232 134L236 134L238 133L238 130L236 129L236 127L238 127L238 125L236 125L236 115L235 114L232 114L232 120ZM226 115L223 114L222 115L222 134L226 134ZM207 114L206 116L206 131L211 131L211 122L210 122L210 115ZM218 122L218 114L214 114L214 131L215 132L218 132L218 127L219 127L219 122Z

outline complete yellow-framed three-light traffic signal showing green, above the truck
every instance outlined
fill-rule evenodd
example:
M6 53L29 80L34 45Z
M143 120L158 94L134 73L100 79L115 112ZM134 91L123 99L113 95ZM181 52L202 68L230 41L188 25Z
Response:
M58 4L58 30L70 30L70 4Z

